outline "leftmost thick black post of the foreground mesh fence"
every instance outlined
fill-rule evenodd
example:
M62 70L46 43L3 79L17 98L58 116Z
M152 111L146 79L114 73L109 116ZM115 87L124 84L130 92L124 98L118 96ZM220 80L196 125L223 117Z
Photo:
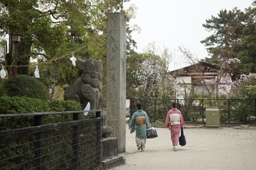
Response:
M34 117L34 125L35 126L39 126L39 125L44 125L44 116L40 115L40 116L35 116ZM42 159L42 155L43 155L43 142L42 142L42 132L36 132L35 133L35 142L34 142L34 146L35 146L35 167L38 170L42 170L43 169L43 159Z

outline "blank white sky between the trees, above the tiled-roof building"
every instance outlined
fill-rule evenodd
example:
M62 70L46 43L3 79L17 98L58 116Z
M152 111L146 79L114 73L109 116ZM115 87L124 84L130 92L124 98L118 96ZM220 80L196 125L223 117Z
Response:
M220 10L232 10L237 7L251 6L253 0L131 0L125 8L135 4L138 8L136 18L130 24L141 28L132 33L137 42L137 52L143 52L148 43L155 42L159 48L169 48L174 57L170 70L188 66L180 58L177 46L183 45L198 59L207 57L205 46L200 43L211 33L202 24L211 16L217 16Z

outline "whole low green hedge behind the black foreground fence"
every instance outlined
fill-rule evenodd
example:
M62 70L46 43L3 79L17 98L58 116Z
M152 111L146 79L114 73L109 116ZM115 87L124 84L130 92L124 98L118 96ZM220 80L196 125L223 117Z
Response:
M81 104L77 103L76 101L64 101L60 99L45 101L42 99L33 99L29 97L0 97L0 114L76 110L82 110ZM85 118L82 116L82 113L80 118ZM44 122L45 124L52 124L54 122L67 122L70 120L72 120L72 114L47 115L45 116ZM86 131L83 131L84 136L86 134L90 134L90 138L88 139L83 137L84 141L90 140L90 143L87 144L84 143L84 141L83 143L81 141L79 143L79 148L83 148L81 152L86 152L89 155L95 154L94 148L97 148L97 146L95 146L97 143L94 141L92 142L92 140L95 140L98 137L91 137L96 128L95 126L91 127L93 123L94 122L85 124L85 126L88 128L86 128ZM33 125L33 116L0 118L0 131L29 127L31 125ZM44 169L50 169L55 165L68 167L72 164L72 132L73 127L68 126L65 128L45 131L43 133L44 139L42 142L44 143L44 147L42 148L42 152L45 156L42 157L42 159L44 161ZM59 134L62 133L63 135L59 136ZM58 136L56 136L56 134L58 134ZM3 150L3 153L0 154L0 160L3 160L0 164L0 167L2 167L0 169L31 169L31 167L35 167L35 164L33 164L32 161L35 159L35 134L28 132L28 134L21 133L19 135L15 134L13 136L8 135L7 137L4 137L2 141L3 142L0 143L0 147L8 149ZM84 144L87 147L84 147ZM90 150L91 148L92 150ZM6 160L9 158L10 160ZM52 162L55 164L52 164L51 160L54 160ZM88 160L90 160L90 158L83 160L83 162L87 162ZM56 168L58 169L58 167Z

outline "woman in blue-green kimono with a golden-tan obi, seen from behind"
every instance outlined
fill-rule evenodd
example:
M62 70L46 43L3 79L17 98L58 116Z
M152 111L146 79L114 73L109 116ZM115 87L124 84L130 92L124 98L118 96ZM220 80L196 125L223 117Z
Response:
M148 115L141 108L141 104L137 104L138 110L133 113L131 120L129 122L130 132L136 131L135 141L137 149L144 151L147 139L147 129L151 127L148 119Z

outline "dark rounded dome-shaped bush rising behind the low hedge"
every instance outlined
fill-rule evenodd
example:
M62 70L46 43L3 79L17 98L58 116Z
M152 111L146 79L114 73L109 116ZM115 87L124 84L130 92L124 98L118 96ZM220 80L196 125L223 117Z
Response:
M44 83L27 75L20 74L16 78L5 80L3 88L8 96L50 99L49 90Z

